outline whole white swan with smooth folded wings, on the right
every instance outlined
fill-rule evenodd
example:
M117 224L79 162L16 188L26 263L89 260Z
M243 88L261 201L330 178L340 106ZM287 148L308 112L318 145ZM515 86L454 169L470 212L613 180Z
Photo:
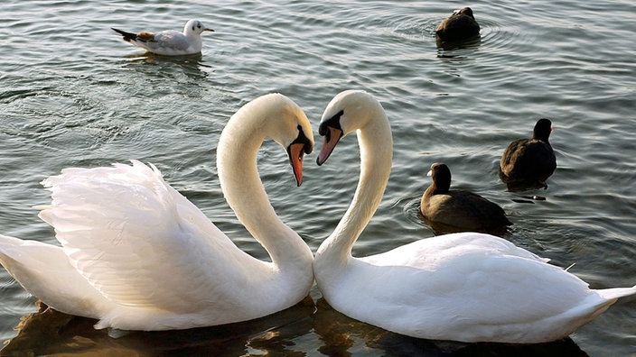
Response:
M636 286L590 289L566 270L482 233L447 234L353 258L351 247L379 206L391 169L387 115L366 92L345 91L327 106L318 164L353 131L360 182L313 262L323 297L341 313L419 338L541 343L571 334L617 298L636 294Z

